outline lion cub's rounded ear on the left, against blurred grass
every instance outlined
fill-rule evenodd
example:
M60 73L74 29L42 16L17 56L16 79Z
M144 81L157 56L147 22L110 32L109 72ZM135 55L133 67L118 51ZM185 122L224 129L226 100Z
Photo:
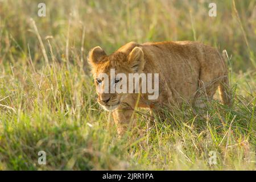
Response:
M88 63L94 66L95 64L98 64L100 62L100 59L103 56L106 56L105 51L100 46L94 47L90 49L90 52L88 54Z

